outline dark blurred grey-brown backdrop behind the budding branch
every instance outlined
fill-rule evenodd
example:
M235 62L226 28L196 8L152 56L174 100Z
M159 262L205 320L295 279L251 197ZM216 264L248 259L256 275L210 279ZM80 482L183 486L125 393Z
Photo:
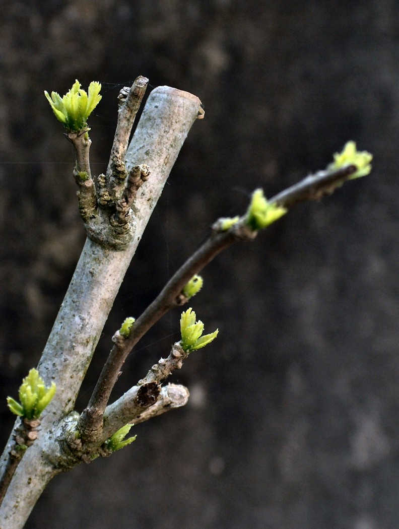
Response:
M370 176L293 209L204 273L192 306L217 340L173 381L184 408L51 482L26 527L397 529L399 2L3 0L0 19L0 411L5 442L84 230L74 159L43 90L103 84L89 124L105 170L117 94L138 75L196 94L194 124L104 329L137 316L219 216L323 169L347 140ZM115 397L178 340L164 317Z

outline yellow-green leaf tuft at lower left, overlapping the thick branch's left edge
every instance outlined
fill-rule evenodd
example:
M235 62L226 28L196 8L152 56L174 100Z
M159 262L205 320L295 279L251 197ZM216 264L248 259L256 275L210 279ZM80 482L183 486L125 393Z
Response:
M51 382L51 386L46 388L37 369L31 369L20 386L20 402L17 402L12 397L7 397L8 408L10 408L12 413L20 417L38 419L44 408L50 404L55 393L55 383Z

